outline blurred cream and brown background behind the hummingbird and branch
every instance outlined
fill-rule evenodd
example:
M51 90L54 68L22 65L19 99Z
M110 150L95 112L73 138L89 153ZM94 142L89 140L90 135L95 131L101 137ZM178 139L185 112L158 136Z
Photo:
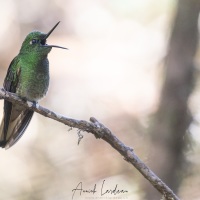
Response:
M180 3L181 2L181 3ZM0 0L0 85L25 36L47 33L50 88L41 105L109 127L182 199L199 199L198 0ZM3 101L0 101L0 117ZM84 189L161 196L104 141L34 114L20 141L0 150L0 199L63 200ZM107 195L114 199L116 196ZM100 193L74 199L103 199Z

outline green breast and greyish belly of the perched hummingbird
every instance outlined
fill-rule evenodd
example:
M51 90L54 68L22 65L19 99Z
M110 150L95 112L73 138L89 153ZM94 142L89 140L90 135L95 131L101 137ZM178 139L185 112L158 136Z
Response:
M22 62L16 93L29 101L43 98L49 87L49 62Z

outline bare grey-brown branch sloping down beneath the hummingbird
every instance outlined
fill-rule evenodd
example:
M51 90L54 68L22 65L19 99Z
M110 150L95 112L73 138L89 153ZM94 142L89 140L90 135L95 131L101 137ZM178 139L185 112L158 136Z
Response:
M106 126L101 124L94 117L91 117L89 122L64 117L39 104L25 101L16 94L5 91L3 88L0 88L0 99L21 104L45 117L68 125L70 128L78 128L79 131L92 133L96 138L101 138L116 149L127 162L132 164L154 186L154 188L165 197L166 200L179 200L173 191L138 158L132 148L123 144Z

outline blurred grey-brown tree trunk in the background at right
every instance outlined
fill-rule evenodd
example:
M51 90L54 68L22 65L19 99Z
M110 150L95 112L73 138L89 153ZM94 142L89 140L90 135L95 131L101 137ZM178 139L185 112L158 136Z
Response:
M165 81L160 105L150 129L152 149L149 165L177 192L184 165L184 136L191 123L188 98L194 82L194 56L198 46L200 0L179 0L165 60ZM160 195L145 186L147 199Z

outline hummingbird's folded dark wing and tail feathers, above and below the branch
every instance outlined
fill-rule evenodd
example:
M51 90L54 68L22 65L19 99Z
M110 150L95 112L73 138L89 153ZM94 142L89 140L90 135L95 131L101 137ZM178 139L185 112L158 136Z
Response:
M4 80L4 88L6 91L15 93L19 84L21 68L18 57L15 57L7 71ZM14 145L26 130L32 116L33 111L25 107L13 104L4 100L4 117L0 126L0 146L2 148L10 148Z

